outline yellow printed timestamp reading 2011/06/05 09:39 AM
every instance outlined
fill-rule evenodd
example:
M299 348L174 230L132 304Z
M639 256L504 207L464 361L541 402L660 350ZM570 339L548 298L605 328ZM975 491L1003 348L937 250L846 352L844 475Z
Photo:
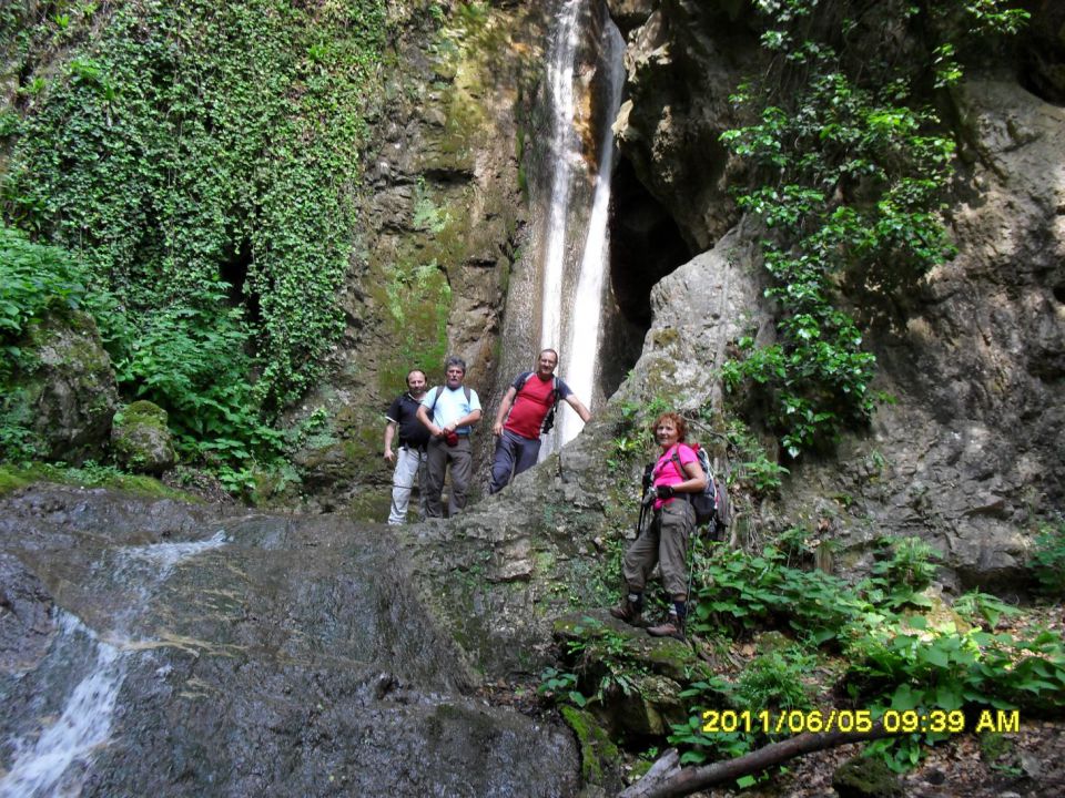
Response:
M893 734L961 734L970 718L961 709L886 709L874 717L870 709L708 709L702 714L703 734L812 734L840 732L869 734L878 720L883 732ZM1021 715L1012 710L983 710L975 716L973 732L1006 734L1021 729Z

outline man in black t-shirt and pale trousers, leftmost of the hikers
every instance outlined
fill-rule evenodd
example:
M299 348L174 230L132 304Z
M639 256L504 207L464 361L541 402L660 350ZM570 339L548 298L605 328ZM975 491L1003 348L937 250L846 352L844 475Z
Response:
M429 430L418 420L418 406L425 398L426 385L425 371L413 369L407 375L407 392L396 397L386 416L385 460L396 464L392 478L389 524L406 523L415 478L418 480L418 518L425 518L425 447L429 442ZM397 428L399 451L394 453L392 441Z

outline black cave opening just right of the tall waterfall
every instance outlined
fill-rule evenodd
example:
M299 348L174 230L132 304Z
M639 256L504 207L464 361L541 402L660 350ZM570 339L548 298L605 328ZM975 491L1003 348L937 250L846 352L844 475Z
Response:
M607 396L617 390L642 352L651 327L651 288L696 254L623 155L611 177L609 237L610 285L619 315L608 323L602 337Z

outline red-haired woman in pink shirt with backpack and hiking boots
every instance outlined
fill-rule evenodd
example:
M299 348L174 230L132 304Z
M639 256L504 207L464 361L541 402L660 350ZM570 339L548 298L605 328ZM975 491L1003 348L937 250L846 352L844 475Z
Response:
M619 606L610 610L610 614L630 624L639 622L647 577L659 563L672 605L666 621L647 632L656 637L668 635L683 640L688 616L688 582L684 579L688 538L696 526L696 511L688 494L701 492L707 487L707 475L696 452L684 443L688 424L683 418L673 412L662 413L652 429L661 456L651 470L651 487L643 501L653 500L655 515L648 529L625 553L621 570L628 594Z

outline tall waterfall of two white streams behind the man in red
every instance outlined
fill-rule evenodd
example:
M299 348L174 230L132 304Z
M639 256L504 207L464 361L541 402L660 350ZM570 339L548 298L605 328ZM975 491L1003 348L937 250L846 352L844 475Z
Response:
M605 276L609 263L607 242L608 209L610 205L610 174L613 167L613 132L610 122L617 116L625 83L622 55L625 41L617 25L604 11L606 20L596 52L599 66L606 70L607 92L599 163L595 168L595 191L587 228L571 231L575 217L570 207L571 186L578 168L584 168L584 154L578 150L580 139L576 130L576 66L580 30L578 20L586 14L588 0L565 0L557 37L551 48L549 65L550 100L552 103L552 157L550 206L542 262L542 298L540 347L560 349L558 374L589 407L594 406L598 381L598 354ZM584 238L579 268L570 266L567 253ZM574 246L568 246L572 242ZM574 274L576 273L576 274ZM565 340L565 344L562 341ZM559 409L556 431L548 436L540 450L548 453L572 440L584 423L575 412Z

